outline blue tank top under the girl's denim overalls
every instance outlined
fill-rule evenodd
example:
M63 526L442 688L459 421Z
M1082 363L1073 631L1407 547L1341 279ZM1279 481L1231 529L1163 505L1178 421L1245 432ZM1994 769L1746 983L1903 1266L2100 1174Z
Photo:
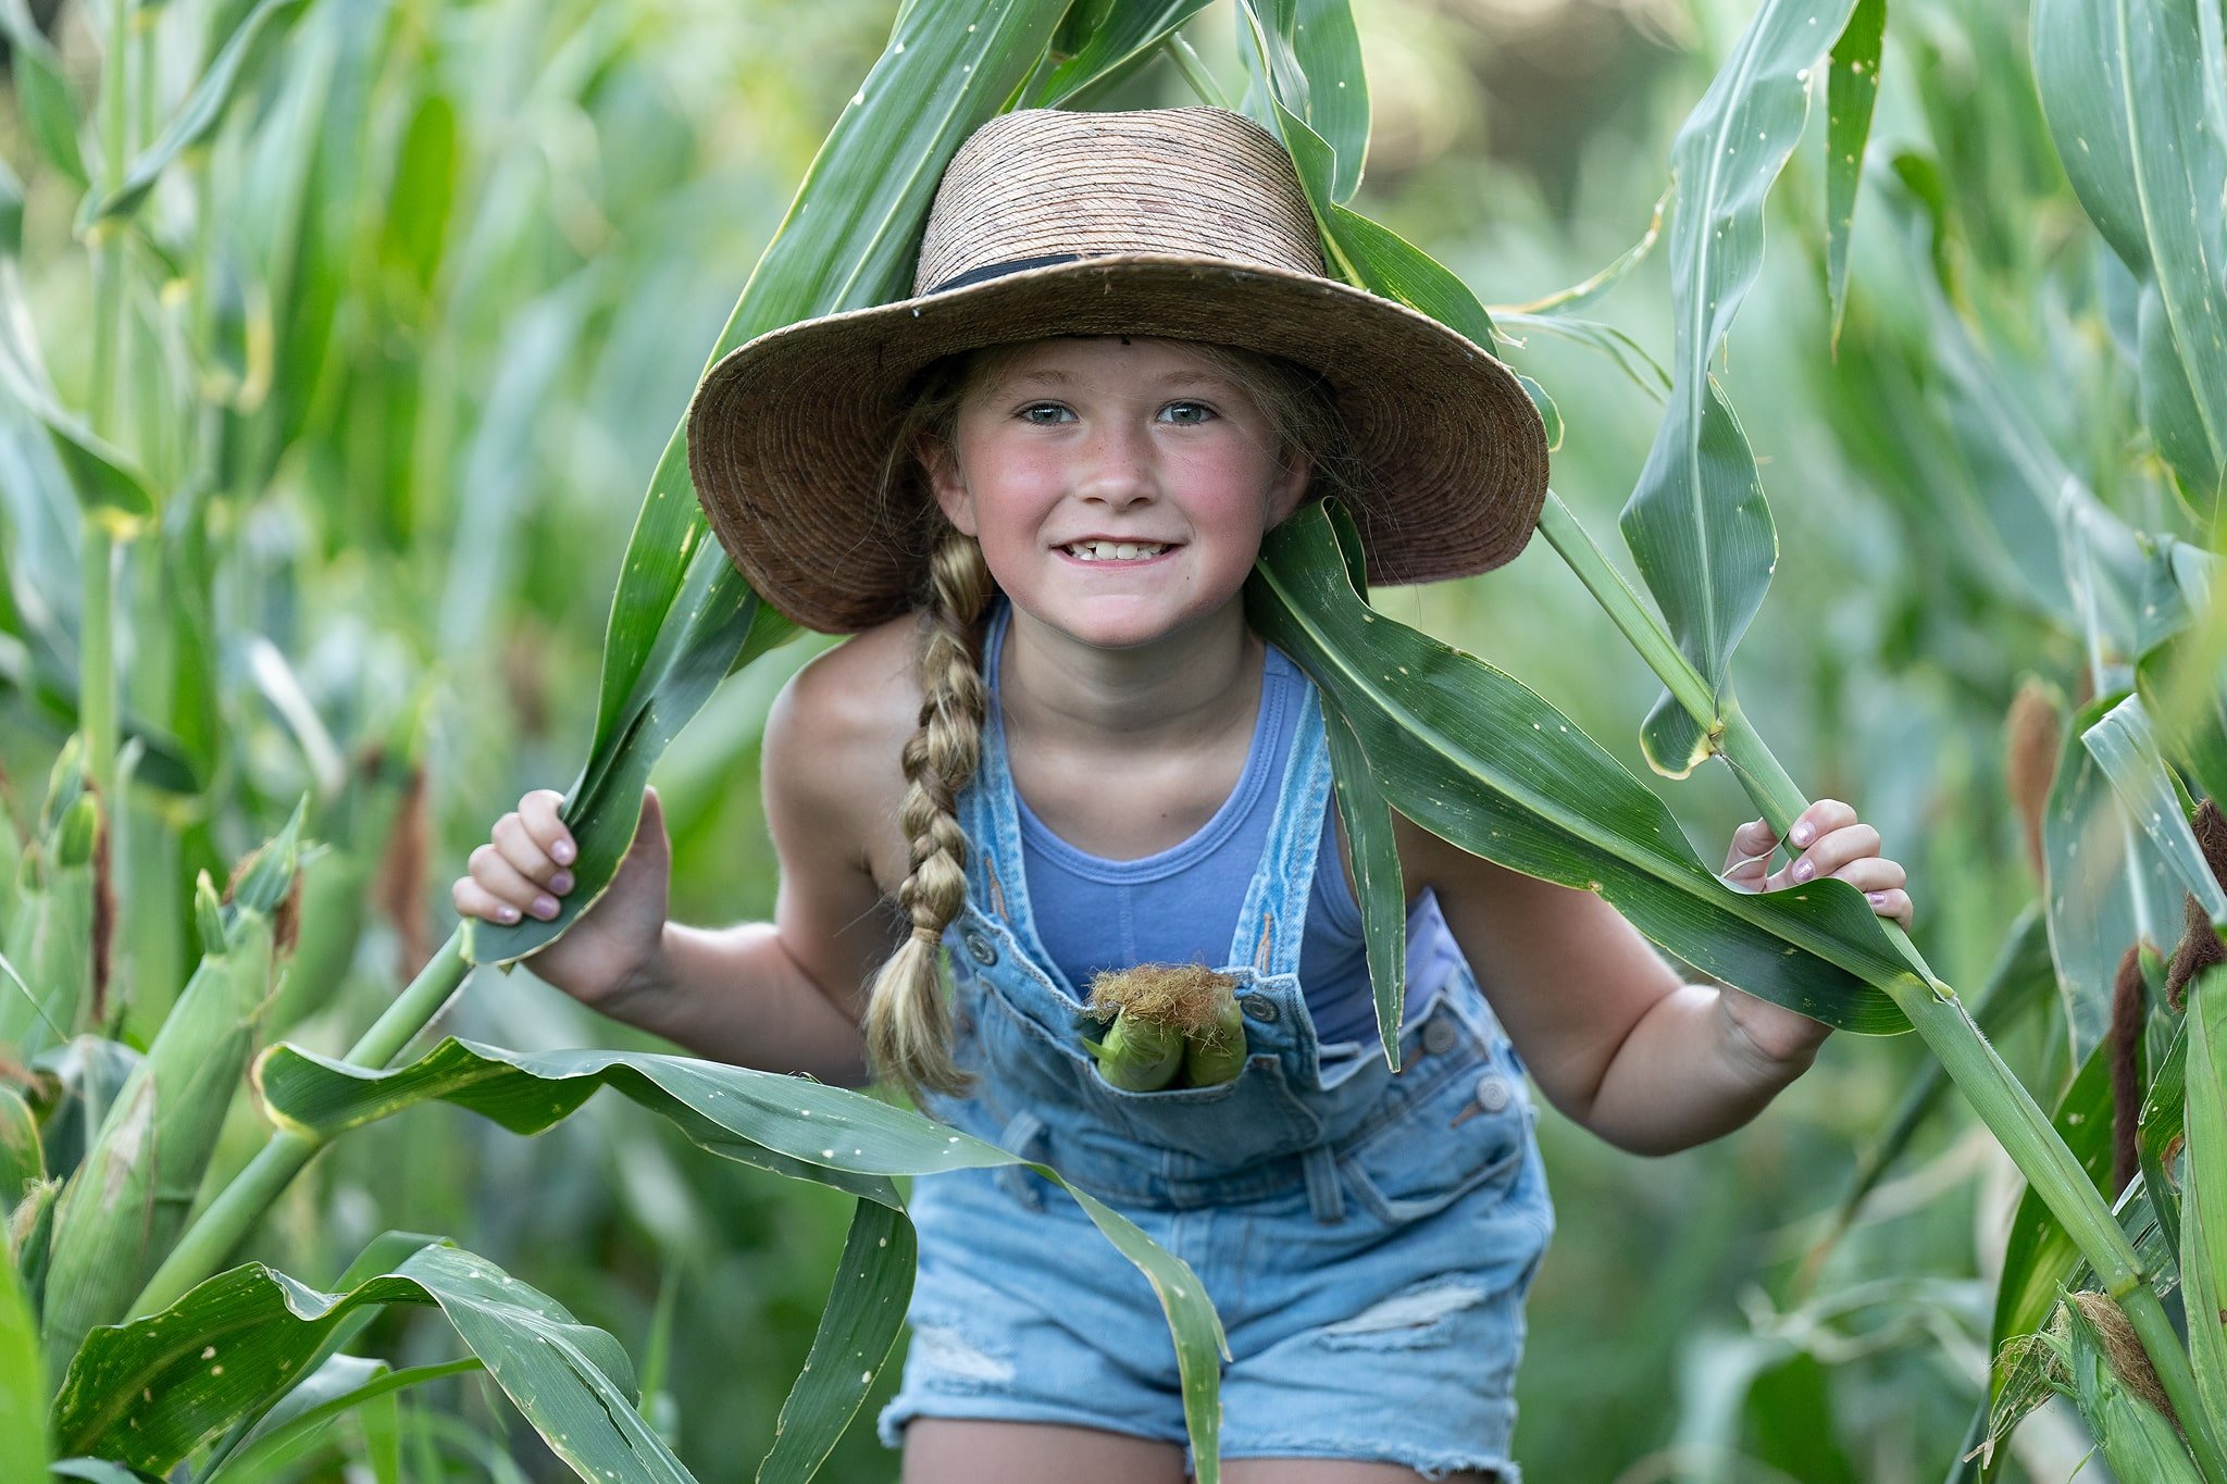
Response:
M998 705L1009 614L1011 607L1000 601L982 645L982 679L991 705ZM1245 890L1267 845L1309 685L1312 681L1283 650L1267 645L1260 710L1238 785L1196 834L1156 854L1109 861L1078 850L1053 834L1020 790L1013 790L1036 932L1069 988L1087 992L1100 970L1134 963L1220 963L1229 952L1229 926L1238 921ZM1459 952L1439 903L1423 892L1407 912L1410 1019L1436 977L1454 961ZM1361 939L1361 908L1338 859L1332 810L1325 810L1316 850L1298 983L1323 1046L1376 1039L1376 1001Z

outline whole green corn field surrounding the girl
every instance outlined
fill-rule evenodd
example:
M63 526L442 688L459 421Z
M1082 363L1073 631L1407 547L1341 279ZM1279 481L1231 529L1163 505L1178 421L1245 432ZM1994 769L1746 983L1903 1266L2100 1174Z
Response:
M517 961L650 781L675 917L771 908L757 743L826 641L706 541L702 367L904 296L998 111L1207 100L1554 438L1503 572L1370 594L1312 505L1247 587L1332 719L1381 1023L1396 810L1846 1032L1701 1150L1548 1119L1519 1462L2227 1484L2220 0L0 0L0 1477L895 1477L906 1195L1016 1157ZM563 914L443 939L434 883L563 779ZM1826 794L1913 934L1688 843ZM1220 1322L1071 1195L1207 1484Z

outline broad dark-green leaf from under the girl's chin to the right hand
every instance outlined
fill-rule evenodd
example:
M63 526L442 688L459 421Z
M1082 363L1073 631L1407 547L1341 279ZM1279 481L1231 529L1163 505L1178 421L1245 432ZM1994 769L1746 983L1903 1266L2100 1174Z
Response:
M1358 543L1321 503L1269 532L1247 616L1354 730L1392 808L1510 870L1597 890L1668 952L1750 995L1844 1030L1909 1028L1873 986L1911 970L1860 892L1728 888L1661 799L1552 705L1372 612L1341 536Z

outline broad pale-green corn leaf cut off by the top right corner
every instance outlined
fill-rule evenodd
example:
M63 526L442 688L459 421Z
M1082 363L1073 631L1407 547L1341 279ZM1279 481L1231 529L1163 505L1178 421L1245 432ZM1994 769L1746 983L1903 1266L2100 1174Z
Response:
M2209 11L2209 13L2207 13ZM2205 0L2035 0L2033 80L2080 205L2120 260L2156 289L2142 316L2145 385L2158 443L2209 514L2227 467L2227 82ZM2171 376L2167 367L2176 367Z

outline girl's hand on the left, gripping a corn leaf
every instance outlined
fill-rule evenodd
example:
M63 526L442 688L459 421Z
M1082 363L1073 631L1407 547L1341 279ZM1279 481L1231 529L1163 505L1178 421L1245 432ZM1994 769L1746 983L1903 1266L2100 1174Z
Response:
M503 926L526 914L557 917L557 899L572 890L572 861L579 859L572 832L557 817L559 803L563 794L537 788L519 799L517 812L494 821L490 841L468 861L470 874L450 888L457 912ZM650 788L635 843L610 888L563 937L534 950L534 975L586 1006L657 983L670 874L673 843Z

